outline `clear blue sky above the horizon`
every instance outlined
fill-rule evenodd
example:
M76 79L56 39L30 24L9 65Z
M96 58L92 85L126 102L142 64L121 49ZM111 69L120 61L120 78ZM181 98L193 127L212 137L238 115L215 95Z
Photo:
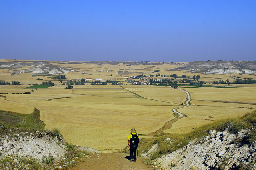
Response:
M0 58L256 60L256 0L0 0Z

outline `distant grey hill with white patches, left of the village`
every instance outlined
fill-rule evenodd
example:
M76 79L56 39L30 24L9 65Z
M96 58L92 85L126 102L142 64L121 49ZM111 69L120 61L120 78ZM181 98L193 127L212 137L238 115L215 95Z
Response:
M26 67L26 69L24 68ZM1 69L12 69L14 74L63 74L72 71L48 61L22 61L22 62L0 62ZM20 69L24 68L24 69Z

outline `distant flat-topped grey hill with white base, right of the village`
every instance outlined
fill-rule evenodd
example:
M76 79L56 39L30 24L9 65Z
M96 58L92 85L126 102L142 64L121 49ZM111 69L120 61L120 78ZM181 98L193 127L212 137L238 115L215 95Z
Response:
M256 73L256 61L193 61L170 71L188 70L192 73L228 74L228 73Z

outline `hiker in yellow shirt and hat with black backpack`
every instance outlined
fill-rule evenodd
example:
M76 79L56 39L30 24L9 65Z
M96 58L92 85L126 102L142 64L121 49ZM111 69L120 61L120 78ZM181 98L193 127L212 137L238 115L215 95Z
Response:
M128 136L128 148L130 150L131 157L130 161L136 162L136 150L138 148L139 142L139 136L136 133L135 128L132 128L131 134Z

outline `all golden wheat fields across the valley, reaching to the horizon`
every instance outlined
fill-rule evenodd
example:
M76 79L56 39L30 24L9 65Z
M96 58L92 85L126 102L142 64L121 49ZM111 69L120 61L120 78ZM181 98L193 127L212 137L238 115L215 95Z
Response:
M1 60L7 62L6 60ZM12 61L21 62L21 61ZM70 80L92 78L103 81L120 81L123 85L74 85L66 89L54 79L59 74L36 75L31 73L12 74L14 70L0 69L0 80L19 81L23 85L0 85L0 110L16 113L32 113L34 108L40 110L40 119L47 129L58 128L68 143L79 146L90 146L97 150L118 150L127 144L128 134L132 127L140 134L148 134L162 128L174 118L172 109L184 106L186 93L190 93L191 106L180 108L186 114L176 121L166 133L186 133L212 121L244 115L256 108L256 84L230 84L236 88L191 87L181 86L178 89L170 86L130 85L123 76L159 74L170 77L200 75L200 80L212 85L212 81L231 77L252 78L254 75L226 74L204 75L187 71L170 71L185 63L130 65L123 63L65 63L52 61L55 65L71 69L64 73L67 83ZM37 80L37 79L42 80ZM156 78L156 77L154 77ZM52 81L56 85L47 89L25 89L28 84L41 84ZM227 84L213 85L226 87ZM31 94L23 94L31 92ZM4 94L5 93L5 94ZM8 94L6 94L8 93Z

